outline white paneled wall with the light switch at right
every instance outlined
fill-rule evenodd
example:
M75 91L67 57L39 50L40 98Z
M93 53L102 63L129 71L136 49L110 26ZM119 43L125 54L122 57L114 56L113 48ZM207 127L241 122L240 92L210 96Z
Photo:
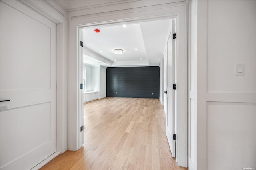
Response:
M196 168L255 168L256 1L197 3Z

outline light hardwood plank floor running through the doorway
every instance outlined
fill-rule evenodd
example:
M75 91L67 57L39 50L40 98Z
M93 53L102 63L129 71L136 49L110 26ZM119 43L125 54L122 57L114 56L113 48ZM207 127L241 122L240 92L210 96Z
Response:
M41 169L187 170L171 156L159 99L110 97L84 103L84 146Z

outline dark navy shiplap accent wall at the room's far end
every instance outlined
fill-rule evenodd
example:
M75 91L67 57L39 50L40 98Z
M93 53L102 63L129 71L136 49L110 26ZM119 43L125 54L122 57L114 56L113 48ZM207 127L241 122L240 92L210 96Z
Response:
M108 67L106 88L107 97L159 98L159 67Z

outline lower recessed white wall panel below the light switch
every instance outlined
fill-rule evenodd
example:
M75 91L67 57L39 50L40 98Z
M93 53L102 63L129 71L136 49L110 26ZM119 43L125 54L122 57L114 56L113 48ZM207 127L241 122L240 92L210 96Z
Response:
M256 167L255 110L256 103L207 102L208 170Z

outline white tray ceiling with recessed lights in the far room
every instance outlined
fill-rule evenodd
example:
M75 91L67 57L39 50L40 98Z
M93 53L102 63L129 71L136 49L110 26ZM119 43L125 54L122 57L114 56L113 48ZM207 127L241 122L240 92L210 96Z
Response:
M171 20L83 28L84 63L106 67L158 66ZM94 32L94 29L100 32ZM123 49L123 54L114 54ZM137 49L137 50L135 50ZM101 52L102 51L102 52Z

